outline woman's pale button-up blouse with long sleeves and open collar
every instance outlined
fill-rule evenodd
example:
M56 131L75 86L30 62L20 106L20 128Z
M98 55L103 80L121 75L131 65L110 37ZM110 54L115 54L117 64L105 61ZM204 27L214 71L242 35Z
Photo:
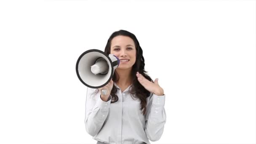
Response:
M132 98L128 88L121 92L117 87L118 101L110 103L100 98L94 88L87 89L85 102L85 128L98 143L107 144L150 144L157 141L163 133L166 122L165 95L150 93L147 98L147 112L141 114L140 99ZM134 100L136 99L136 100Z

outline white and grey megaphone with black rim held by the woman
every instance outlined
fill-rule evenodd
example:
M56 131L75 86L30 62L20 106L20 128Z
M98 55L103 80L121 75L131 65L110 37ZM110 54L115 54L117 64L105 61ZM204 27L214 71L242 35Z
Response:
M91 49L82 53L76 64L79 80L89 88L101 88L112 79L120 60L113 54ZM107 94L107 91L102 91Z

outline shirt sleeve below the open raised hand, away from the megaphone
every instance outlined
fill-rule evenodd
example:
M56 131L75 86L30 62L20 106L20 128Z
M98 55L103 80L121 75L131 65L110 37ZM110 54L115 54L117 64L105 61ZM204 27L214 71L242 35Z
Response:
M147 98L147 112L145 133L150 141L157 141L163 134L166 122L165 95L157 96L153 93Z

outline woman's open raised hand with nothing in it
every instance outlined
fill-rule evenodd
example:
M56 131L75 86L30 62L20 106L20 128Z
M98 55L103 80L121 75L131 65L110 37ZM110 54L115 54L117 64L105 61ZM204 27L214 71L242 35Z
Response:
M155 82L152 83L151 81L147 80L143 75L139 72L136 73L137 79L141 85L151 93L155 93L157 96L163 96L163 88L158 85L158 78L155 79Z

